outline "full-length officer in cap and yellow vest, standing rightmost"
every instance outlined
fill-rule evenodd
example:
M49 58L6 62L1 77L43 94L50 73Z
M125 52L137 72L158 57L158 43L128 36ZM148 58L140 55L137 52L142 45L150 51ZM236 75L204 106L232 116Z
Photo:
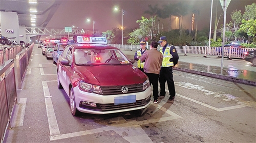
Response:
M168 100L174 100L176 92L173 80L173 66L178 63L179 55L175 47L167 43L167 38L165 36L160 37L158 43L161 45L159 51L163 54L163 62L159 75L159 96L165 96L165 82L167 81L170 95Z

